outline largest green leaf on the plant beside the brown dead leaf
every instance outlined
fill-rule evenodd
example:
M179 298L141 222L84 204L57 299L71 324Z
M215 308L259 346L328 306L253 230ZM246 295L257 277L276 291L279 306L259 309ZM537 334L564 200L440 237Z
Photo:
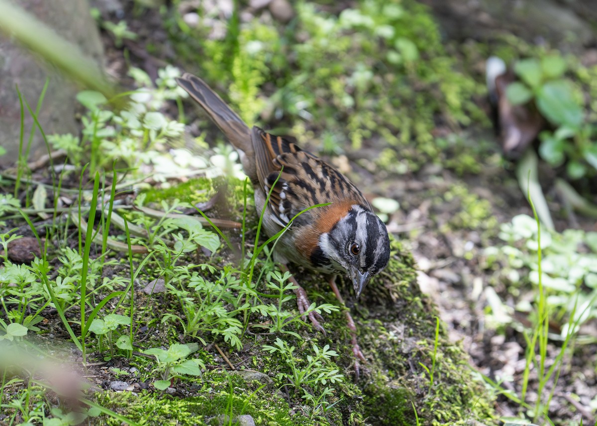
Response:
M572 87L564 80L550 81L537 91L537 107L553 124L578 128L583 110L572 97Z

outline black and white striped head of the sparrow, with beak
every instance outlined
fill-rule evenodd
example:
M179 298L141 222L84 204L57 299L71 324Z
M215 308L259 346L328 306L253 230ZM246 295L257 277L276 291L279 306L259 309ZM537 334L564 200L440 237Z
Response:
M356 297L390 260L390 239L372 211L352 205L338 223L319 237L319 249L352 280Z

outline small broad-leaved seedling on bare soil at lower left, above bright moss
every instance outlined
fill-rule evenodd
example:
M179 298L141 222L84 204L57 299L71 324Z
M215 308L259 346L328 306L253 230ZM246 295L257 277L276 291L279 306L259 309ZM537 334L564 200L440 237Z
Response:
M198 349L199 345L196 343L175 343L167 350L150 348L143 351L147 355L155 356L158 362L158 366L153 369L153 372L160 373L161 380L154 382L155 387L165 390L184 375L201 376L201 369L205 369L203 361L198 358L186 359Z

